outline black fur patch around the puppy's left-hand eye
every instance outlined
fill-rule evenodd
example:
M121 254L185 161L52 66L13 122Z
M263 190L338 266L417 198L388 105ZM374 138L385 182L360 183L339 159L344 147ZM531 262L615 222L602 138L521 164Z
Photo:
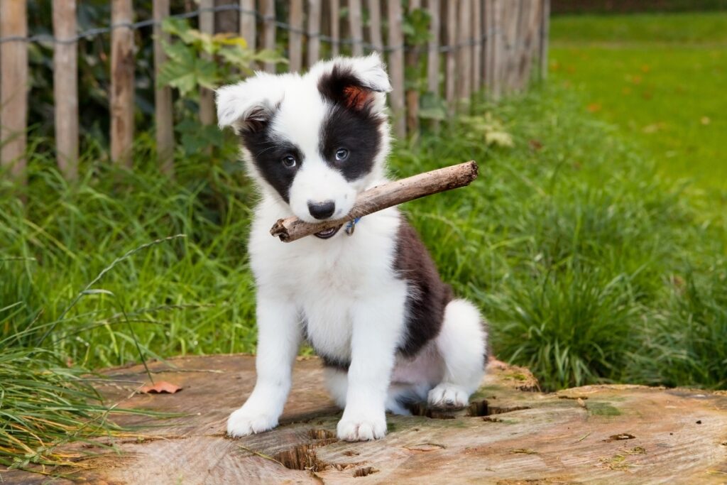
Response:
M270 132L270 121L256 121L254 124L249 124L248 129L243 130L240 136L262 178L273 186L284 201L289 202L290 186L303 163L300 149L287 140L273 137ZM286 155L295 157L296 167L291 169L283 165L281 160Z

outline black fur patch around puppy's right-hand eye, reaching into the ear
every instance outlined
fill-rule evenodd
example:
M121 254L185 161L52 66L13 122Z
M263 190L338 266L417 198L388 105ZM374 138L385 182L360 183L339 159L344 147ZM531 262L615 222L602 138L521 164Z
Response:
M336 66L331 73L321 76L318 91L332 105L321 126L318 149L330 167L340 170L346 180L356 180L374 166L382 142L379 127L385 118L372 111L371 99L366 100L371 89L348 69ZM339 148L350 152L345 161L336 160Z

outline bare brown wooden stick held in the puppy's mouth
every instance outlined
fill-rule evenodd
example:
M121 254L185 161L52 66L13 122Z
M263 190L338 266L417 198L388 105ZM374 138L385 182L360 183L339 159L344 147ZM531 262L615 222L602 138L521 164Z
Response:
M413 201L433 193L451 191L464 187L477 178L477 162L471 160L463 164L452 165L443 169L432 170L402 180L377 185L361 193L356 204L346 217L337 220L326 220L322 223L305 223L297 217L278 219L270 229L270 234L278 236L281 241L292 242L326 229L335 228L357 217L364 217L373 212L387 209L404 202Z

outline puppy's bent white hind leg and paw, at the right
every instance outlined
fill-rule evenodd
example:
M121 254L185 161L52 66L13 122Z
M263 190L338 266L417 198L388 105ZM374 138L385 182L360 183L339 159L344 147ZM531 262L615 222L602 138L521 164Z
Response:
M459 409L467 406L477 390L486 366L487 333L475 306L466 300L452 300L444 310L436 345L443 360L444 376L429 391L430 406Z

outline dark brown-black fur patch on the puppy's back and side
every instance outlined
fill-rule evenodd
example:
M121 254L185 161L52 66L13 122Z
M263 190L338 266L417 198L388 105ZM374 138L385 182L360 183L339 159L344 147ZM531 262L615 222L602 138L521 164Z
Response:
M411 357L439 334L452 290L439 278L427 248L403 216L397 234L394 268L411 289L406 299L405 337L398 348L403 356Z

